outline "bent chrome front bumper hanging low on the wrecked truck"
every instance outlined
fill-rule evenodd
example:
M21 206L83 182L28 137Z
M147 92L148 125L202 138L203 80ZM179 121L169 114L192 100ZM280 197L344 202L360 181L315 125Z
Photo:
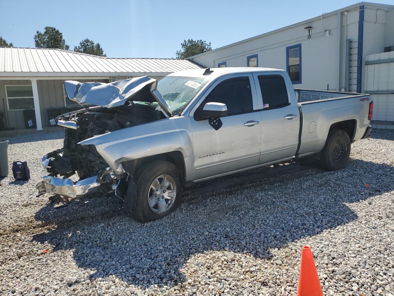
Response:
M96 192L100 187L97 176L80 180L78 182L74 182L71 179L62 179L51 176L44 176L43 178L46 193L63 195L70 198Z

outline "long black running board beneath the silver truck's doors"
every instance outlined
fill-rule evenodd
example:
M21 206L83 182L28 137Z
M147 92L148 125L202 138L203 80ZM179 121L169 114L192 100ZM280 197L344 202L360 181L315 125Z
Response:
M264 171L258 172L256 174L249 174L249 175L245 175L245 176L228 178L224 181L220 181L220 182L212 183L212 184L205 185L205 186L202 186L199 188L191 189L190 195L193 197L198 197L200 195L204 195L207 193L213 193L215 191L219 191L219 190L233 187L233 186L242 185L242 184L248 183L248 182L255 182L260 179L270 178L270 177L276 176L278 174L282 174L285 172L291 172L291 171L298 170L298 169L299 169L298 163L290 163L289 165L281 165L279 167L267 168Z

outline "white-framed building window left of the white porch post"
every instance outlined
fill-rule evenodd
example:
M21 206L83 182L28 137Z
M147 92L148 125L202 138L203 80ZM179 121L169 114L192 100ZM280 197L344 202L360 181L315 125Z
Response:
M8 110L34 109L31 85L7 85L6 94Z

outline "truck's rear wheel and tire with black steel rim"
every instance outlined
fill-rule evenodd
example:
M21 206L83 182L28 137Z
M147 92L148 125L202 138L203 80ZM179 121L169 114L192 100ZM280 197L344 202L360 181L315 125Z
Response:
M320 152L321 167L333 171L346 167L350 156L350 138L343 129L330 130Z

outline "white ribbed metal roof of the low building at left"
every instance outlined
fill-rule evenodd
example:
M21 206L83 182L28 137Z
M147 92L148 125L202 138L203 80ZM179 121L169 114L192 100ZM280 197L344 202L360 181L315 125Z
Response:
M62 49L0 47L0 77L167 75L200 68L190 60L106 58Z

